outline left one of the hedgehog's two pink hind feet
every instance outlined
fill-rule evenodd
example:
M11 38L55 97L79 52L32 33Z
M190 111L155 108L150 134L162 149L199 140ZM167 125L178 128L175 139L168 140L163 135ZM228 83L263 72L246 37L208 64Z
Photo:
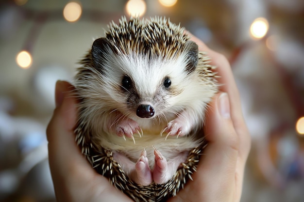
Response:
M135 164L133 181L141 186L148 186L152 183L152 173L149 167L147 152L144 150Z

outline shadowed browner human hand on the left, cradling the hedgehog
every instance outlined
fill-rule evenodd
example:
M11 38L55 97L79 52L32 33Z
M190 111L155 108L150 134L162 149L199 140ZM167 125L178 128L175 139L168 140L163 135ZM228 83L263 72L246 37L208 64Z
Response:
M77 118L74 87L56 83L56 109L47 128L49 162L57 202L132 202L98 174L75 142Z

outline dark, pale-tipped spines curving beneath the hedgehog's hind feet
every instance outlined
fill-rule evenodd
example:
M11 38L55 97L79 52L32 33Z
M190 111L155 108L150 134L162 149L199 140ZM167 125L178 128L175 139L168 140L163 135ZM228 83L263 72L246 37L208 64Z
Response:
M80 136L80 133L78 133L77 138ZM176 137L174 139L176 140ZM181 164L169 182L162 185L152 183L149 186L140 186L135 184L122 170L121 165L113 158L114 152L100 146L96 147L96 144L92 144L91 140L86 140L86 144L82 146L82 151L98 173L107 177L113 186L135 202L164 202L169 197L175 196L180 189L183 189L189 179L192 180L191 174L196 171L200 155L202 155L203 148L206 146L206 142L203 139L197 142L200 142L200 145L193 146L188 150L189 154L186 161Z

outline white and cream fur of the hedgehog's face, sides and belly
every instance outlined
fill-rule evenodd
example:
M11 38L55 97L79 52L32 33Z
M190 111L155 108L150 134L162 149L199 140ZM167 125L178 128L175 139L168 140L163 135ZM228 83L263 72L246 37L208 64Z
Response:
M217 91L215 86L206 85L199 73L186 74L186 53L170 60L149 60L134 52L120 57L115 57L110 52L105 65L106 76L90 68L93 71L90 80L79 79L75 83L80 96L88 98L81 106L86 109L81 116L92 129L92 141L104 148L122 152L135 161L146 149L151 167L154 164L152 146L170 160L180 152L200 145L202 137L195 137L194 134L179 138L173 136L167 140L166 135L160 136L162 129L172 120L182 124L186 133L201 128L206 105ZM153 106L155 115L152 118L139 118L136 111L130 111L126 107L125 94L115 90L123 75L132 78L137 92L143 98L142 103ZM180 93L176 96L163 93L162 98L157 100L154 95L165 77L170 78L171 88L178 89ZM121 114L133 119L143 129L142 138L134 134L136 144L132 139L124 140L115 134L113 129L119 119L123 119Z

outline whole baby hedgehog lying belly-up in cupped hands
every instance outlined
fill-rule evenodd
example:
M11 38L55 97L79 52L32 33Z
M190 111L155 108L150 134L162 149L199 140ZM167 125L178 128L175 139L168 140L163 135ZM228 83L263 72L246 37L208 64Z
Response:
M164 201L196 171L214 67L166 18L110 23L81 61L76 141L92 166L138 202Z

